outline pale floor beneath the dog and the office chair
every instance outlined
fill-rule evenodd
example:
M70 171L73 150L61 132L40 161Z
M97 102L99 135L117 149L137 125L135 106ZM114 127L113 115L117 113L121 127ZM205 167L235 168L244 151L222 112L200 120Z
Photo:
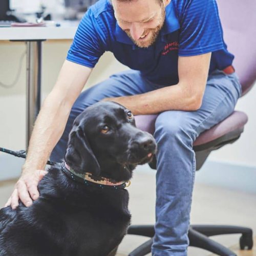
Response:
M14 181L0 182L0 205L9 197ZM130 193L130 211L132 224L154 224L155 219L155 171L143 166L135 170ZM224 224L248 226L256 232L256 194L245 194L220 187L211 187L196 182L191 210L192 224ZM214 238L225 246L235 246L239 235L217 236ZM128 255L130 251L147 238L127 235L119 246L119 256ZM148 254L150 255L150 254ZM206 256L209 252L189 247L189 256ZM242 254L239 254L242 255ZM247 252L247 256L256 253Z

